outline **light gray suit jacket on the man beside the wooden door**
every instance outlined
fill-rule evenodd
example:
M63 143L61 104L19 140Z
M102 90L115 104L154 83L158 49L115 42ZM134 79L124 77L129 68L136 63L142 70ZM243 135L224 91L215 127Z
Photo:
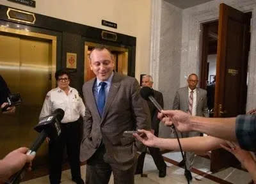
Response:
M178 89L173 100L173 110L188 112L188 86ZM207 107L207 92L205 89L196 88L196 116L209 117Z

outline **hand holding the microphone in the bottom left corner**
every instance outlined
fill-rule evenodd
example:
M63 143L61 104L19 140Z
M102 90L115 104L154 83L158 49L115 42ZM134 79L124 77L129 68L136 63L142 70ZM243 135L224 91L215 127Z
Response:
M31 153L31 155L26 155L27 151L28 148L19 148L10 152L3 160L0 160L0 180L7 180L27 163L27 169L31 170L31 162L35 158L35 152Z

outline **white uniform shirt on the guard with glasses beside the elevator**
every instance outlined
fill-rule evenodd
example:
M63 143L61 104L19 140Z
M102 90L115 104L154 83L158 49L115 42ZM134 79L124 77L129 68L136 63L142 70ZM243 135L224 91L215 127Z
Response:
M54 88L47 93L40 119L49 116L58 108L65 111L61 123L73 122L79 119L79 116L84 116L85 107L82 98L75 88L70 86L68 88L68 95L60 88Z

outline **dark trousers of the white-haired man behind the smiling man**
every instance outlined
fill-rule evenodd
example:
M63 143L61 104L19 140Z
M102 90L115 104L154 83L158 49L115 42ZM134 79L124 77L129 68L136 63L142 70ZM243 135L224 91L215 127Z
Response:
M148 147L148 150L150 152L150 155L153 157L153 160L156 164L156 167L158 170L166 169L166 164L164 162L164 158L162 157L159 148L150 148ZM142 174L143 173L143 165L145 160L146 151L142 152L138 158L138 164L136 168L136 174Z

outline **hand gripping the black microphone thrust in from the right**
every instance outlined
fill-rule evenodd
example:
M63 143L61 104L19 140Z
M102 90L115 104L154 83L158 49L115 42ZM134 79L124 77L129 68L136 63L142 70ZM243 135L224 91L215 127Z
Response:
M170 127L174 125L180 132L189 132L192 130L190 115L186 112L174 111L161 111L157 116L164 123L165 126Z

